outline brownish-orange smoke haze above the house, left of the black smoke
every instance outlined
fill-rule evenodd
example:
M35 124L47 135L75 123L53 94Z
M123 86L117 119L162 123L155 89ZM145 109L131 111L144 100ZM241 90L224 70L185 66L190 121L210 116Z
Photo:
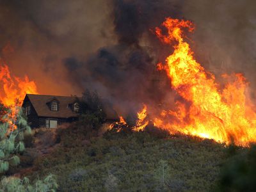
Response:
M63 58L86 58L115 42L110 17L103 0L1 0L0 56L16 75L35 79L40 93L81 94Z

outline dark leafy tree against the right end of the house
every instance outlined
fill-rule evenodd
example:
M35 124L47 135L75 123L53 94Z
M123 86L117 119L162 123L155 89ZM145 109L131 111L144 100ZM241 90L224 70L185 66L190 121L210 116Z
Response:
M98 129L106 118L104 106L97 92L86 90L79 100L80 120L90 124L93 129Z

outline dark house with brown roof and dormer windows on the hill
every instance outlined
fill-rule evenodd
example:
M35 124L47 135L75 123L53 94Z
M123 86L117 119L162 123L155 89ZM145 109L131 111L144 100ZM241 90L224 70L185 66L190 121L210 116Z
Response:
M81 98L72 96L26 94L22 108L31 128L56 128L60 124L78 120L79 99ZM108 121L118 118L109 104L105 103L104 109Z

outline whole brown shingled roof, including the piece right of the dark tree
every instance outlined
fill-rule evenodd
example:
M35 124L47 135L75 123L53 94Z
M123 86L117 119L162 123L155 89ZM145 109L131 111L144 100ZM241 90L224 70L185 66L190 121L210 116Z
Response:
M72 111L72 109L68 107L68 104L74 104L74 102L76 102L77 97L34 94L27 94L26 97L28 97L28 99L30 100L38 116L45 116L51 118L70 118L78 116L77 113L75 113L74 111ZM59 102L58 111L51 111L51 109L47 106L47 103L51 102L54 99ZM112 120L118 119L118 115L116 114L116 111L111 107L111 104L109 104L109 102L107 102L106 100L102 100L102 102L104 110L106 111L106 118Z

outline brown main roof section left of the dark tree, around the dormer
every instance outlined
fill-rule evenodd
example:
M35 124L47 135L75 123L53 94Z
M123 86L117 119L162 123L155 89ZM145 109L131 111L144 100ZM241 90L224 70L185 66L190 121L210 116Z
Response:
M77 113L74 113L72 109L68 108L68 104L73 104L76 101L76 97L33 94L27 94L26 97L30 100L38 116L47 116L51 118L68 118L77 116ZM54 99L59 102L58 111L51 111L49 106L47 106L47 103Z

